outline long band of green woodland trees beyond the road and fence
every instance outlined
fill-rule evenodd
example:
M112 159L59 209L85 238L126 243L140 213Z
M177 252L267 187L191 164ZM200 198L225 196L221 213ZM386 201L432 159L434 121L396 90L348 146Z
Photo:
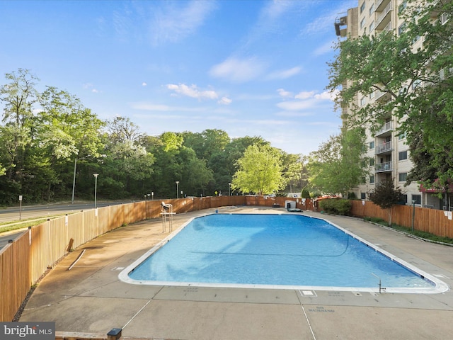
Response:
M55 86L40 92L38 81L28 69L18 69L0 86L0 205L17 203L19 195L25 203L70 200L72 193L75 199L93 199L95 173L101 199L144 198L151 192L154 198L176 198L176 181L184 196L227 193L246 149L270 148L262 137L231 139L218 129L150 136L130 118L99 119ZM277 149L272 154L285 176L294 177L300 155ZM279 183L272 190L283 188ZM302 190L295 180L292 187Z

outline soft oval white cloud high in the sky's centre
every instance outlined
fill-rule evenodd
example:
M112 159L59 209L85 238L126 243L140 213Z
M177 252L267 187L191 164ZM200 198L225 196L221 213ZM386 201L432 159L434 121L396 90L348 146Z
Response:
M259 77L263 74L264 69L265 64L256 58L245 60L229 58L220 64L214 65L210 74L212 77L245 82Z

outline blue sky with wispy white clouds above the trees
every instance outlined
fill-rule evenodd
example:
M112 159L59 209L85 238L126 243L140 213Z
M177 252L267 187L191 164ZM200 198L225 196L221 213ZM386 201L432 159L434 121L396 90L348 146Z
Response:
M221 129L309 154L340 132L333 23L357 0L0 1L0 84L30 69L147 135Z

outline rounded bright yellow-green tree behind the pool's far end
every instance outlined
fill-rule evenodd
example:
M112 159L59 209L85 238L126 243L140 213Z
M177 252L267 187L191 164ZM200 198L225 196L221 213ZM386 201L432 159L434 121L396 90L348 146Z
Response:
M236 162L238 170L231 188L243 193L273 193L285 186L279 149L268 145L251 145Z

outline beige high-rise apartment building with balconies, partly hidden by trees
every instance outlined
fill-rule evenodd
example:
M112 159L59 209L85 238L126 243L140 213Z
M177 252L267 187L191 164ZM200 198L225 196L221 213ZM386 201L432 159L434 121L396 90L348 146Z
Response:
M398 16L405 6L406 0L358 0L357 7L348 9L344 16L336 20L336 35L348 39L362 35L377 35L385 31L392 31L399 35L406 28L403 19ZM413 48L420 47L422 40L414 41ZM348 86L348 82L343 86ZM370 102L390 100L389 94L374 91L368 96L357 96L355 105L360 108ZM353 115L351 107L343 106L343 117L348 118ZM373 191L379 182L390 179L394 181L396 187L399 186L402 189L406 204L449 209L432 193L424 191L423 188L420 190L418 183L405 186L408 173L412 169L412 162L409 158L410 150L405 135L398 135L396 117L389 112L384 125L374 128L377 128L374 129L377 132L368 131L366 140L367 157L371 159L369 178L355 188L357 198L367 199L367 193Z

